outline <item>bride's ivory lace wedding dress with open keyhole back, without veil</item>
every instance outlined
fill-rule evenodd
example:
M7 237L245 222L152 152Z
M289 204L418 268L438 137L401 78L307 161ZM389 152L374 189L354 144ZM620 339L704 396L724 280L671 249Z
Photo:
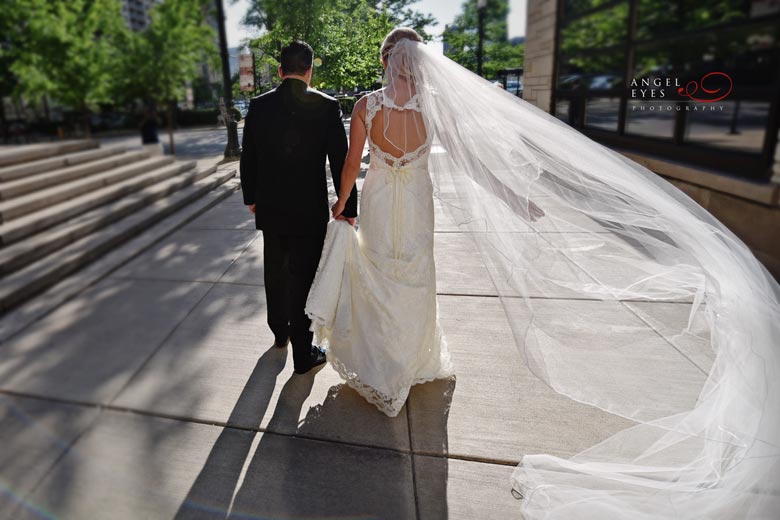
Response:
M328 225L306 313L333 368L366 400L395 417L412 385L448 377L452 365L437 317L428 172L432 132L424 132L415 149L396 156L372 139L375 119L385 125L383 135L403 133L404 124L423 119L418 97L399 106L385 89L368 95L371 162L359 229L338 220Z

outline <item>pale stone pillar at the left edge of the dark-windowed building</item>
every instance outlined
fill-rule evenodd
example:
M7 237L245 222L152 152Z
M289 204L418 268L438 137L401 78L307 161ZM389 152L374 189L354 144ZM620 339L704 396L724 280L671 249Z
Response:
M557 0L528 0L523 99L551 110Z

